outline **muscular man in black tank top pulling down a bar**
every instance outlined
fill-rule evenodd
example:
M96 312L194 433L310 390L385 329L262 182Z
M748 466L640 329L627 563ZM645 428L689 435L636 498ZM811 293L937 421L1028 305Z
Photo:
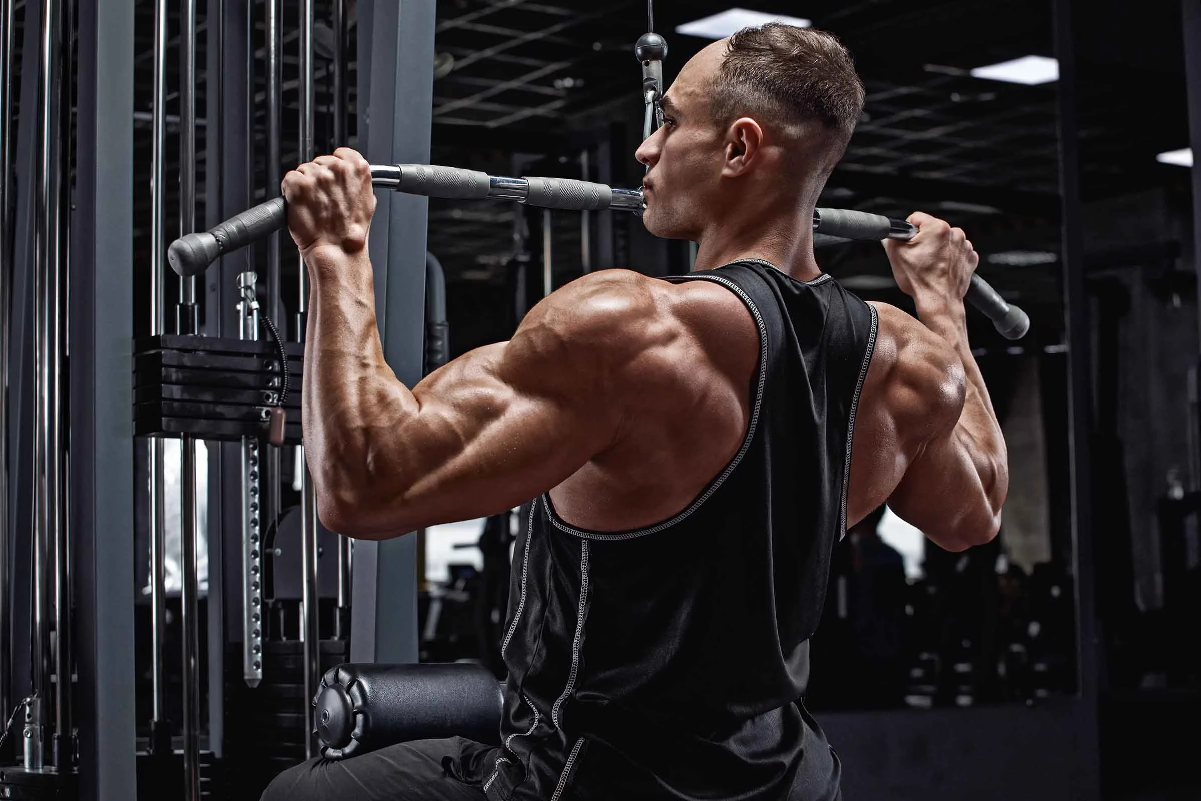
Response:
M584 276L413 388L376 329L366 162L342 149L288 173L322 520L377 539L537 502L501 644L503 747L312 760L264 799L838 797L802 706L831 548L885 501L944 548L986 542L1008 483L963 232L915 214L919 234L888 244L919 319L814 262L813 208L862 97L824 32L707 47L638 150L644 222L698 243L695 270Z

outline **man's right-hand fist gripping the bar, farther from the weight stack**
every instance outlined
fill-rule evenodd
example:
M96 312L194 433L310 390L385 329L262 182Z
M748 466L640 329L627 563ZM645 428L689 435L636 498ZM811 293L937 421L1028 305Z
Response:
M934 294L962 301L980 255L973 250L963 229L952 228L945 220L915 211L909 215L909 222L918 226L913 239L884 241L897 286L910 298Z

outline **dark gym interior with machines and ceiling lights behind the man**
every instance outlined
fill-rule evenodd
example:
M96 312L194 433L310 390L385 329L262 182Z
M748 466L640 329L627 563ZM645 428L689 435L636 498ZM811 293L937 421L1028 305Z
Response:
M1009 447L999 536L950 552L882 508L835 550L805 703L843 796L1201 797L1201 0L658 0L664 82L782 14L866 88L818 205L962 227L1030 323L968 313ZM168 246L342 145L638 190L649 22L646 0L0 0L0 797L256 801L331 747L312 700L337 665L504 677L522 509L328 531L287 231L192 277ZM695 257L616 207L376 186L410 387L580 276ZM818 264L913 312L867 239L818 228Z

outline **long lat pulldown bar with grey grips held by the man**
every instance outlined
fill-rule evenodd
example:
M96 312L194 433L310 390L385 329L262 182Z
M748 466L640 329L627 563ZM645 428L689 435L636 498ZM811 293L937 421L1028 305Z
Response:
M371 184L408 195L462 201L516 201L546 209L633 211L641 215L643 193L569 178L503 178L474 169L436 165L372 165ZM247 209L211 231L181 237L167 249L167 261L181 276L199 275L220 256L258 241L287 225L282 197ZM814 233L841 239L912 239L918 228L894 217L846 209L817 209ZM1010 306L980 276L972 276L967 301L988 317L1006 339L1026 336L1030 319Z

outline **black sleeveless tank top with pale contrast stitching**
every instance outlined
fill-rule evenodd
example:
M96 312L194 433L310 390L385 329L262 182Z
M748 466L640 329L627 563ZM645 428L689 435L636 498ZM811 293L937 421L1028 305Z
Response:
M758 324L746 437L646 528L576 528L549 495L530 506L494 801L838 796L838 759L801 701L876 310L765 262L668 280L724 286Z

